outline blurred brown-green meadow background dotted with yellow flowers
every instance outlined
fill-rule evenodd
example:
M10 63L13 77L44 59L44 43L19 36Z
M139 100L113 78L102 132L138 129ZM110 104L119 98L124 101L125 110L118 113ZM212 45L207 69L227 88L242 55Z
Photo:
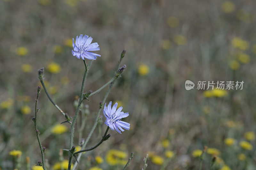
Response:
M202 169L256 169L255 6L253 0L0 0L0 169L41 168L34 166L40 150L31 120L38 69L45 68L54 101L74 114L84 65L71 50L80 34L92 36L101 55L85 91L109 81L127 50L127 69L107 101L130 113L131 129L111 131L77 169L121 169L132 151L129 169L141 169L147 153L147 169L198 169L200 157ZM186 80L244 81L244 87L187 91ZM77 150L105 91L84 102ZM63 117L44 91L39 107L47 165L67 169L62 149L69 146L70 126L60 125ZM77 130L81 120L83 132ZM105 128L100 122L88 147Z

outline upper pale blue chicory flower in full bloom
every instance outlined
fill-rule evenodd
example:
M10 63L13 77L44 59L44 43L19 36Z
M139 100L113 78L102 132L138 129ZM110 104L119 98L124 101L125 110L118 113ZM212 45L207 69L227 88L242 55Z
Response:
M76 36L76 43L74 43L73 38L73 56L76 56L78 59L81 57L83 60L84 58L96 60L97 56L100 57L100 55L89 51L97 51L100 50L100 48L98 43L91 43L92 37L88 37L88 35L83 36L83 34L81 34L79 37Z

